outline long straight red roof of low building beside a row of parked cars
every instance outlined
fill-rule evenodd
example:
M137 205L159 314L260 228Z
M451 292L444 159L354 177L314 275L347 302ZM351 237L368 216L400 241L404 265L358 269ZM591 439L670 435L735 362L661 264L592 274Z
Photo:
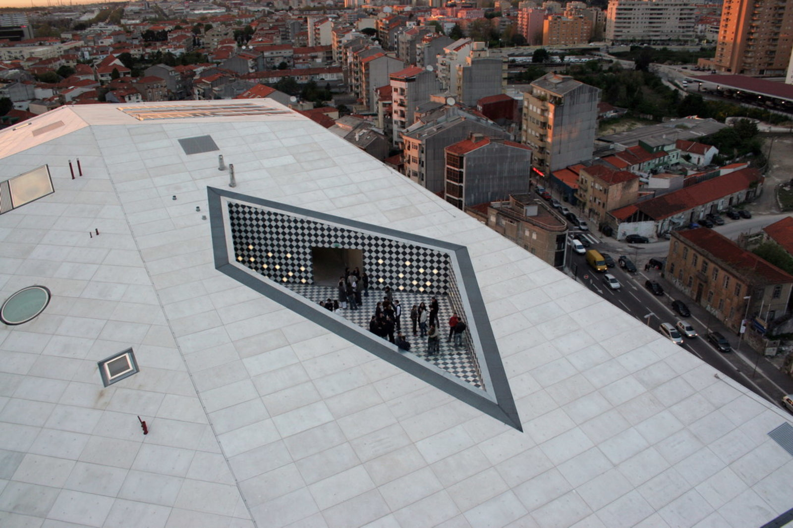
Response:
M757 169L736 170L730 174L723 174L705 182L639 202L636 206L653 220L661 220L693 209L697 205L704 205L740 190L749 189L753 182L760 182L762 179L763 176Z

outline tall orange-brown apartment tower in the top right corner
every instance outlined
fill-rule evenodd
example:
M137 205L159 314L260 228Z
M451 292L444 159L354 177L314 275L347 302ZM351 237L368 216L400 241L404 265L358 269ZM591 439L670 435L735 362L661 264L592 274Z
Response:
M779 0L725 0L711 66L741 75L785 75L793 48L793 9Z

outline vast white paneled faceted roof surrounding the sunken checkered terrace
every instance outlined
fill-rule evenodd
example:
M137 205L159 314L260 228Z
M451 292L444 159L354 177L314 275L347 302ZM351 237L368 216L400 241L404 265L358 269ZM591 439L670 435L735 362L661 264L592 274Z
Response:
M273 101L56 109L0 157L3 299L52 296L0 329L0 526L744 528L793 507L768 436L790 415ZM219 267L232 201L266 209L249 234L285 214L446 252L502 392L455 395ZM138 372L105 387L129 349Z

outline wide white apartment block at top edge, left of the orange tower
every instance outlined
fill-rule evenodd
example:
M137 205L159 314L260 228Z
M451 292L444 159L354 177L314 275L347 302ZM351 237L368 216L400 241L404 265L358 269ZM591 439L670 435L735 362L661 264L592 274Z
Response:
M606 40L611 44L693 42L695 22L692 0L610 0Z

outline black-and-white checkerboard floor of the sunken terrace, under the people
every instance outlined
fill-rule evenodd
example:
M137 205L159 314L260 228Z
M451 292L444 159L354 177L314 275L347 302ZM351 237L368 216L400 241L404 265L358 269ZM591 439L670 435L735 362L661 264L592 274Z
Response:
M337 290L331 286L318 286L318 285L302 285L302 284L285 284L293 292L319 303L320 300L336 299ZM440 312L438 315L440 323L441 342L439 346L439 353L434 355L427 355L427 339L413 335L412 322L410 320L410 309L413 304L427 304L429 306L431 295L423 293L400 293L395 295L394 299L399 300L402 305L402 332L405 338L410 342L409 354L416 354L424 361L431 362L446 372L454 374L462 380L470 383L474 387L481 387L481 375L477 369L476 362L471 358L471 351L467 350L465 344L462 346L454 346L453 342L446 342L449 335L449 325L447 321L452 315L452 308L449 300L445 296L438 297ZM336 312L339 316L351 320L359 327L365 328L369 331L369 321L374 315L374 308L377 302L382 300L381 292L377 290L370 290L369 297L362 297L363 305L359 306L356 310L339 309Z

